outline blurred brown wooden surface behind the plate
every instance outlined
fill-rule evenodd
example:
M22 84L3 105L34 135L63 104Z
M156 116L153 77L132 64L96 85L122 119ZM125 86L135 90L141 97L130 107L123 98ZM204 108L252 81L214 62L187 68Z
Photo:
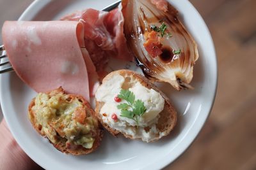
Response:
M31 2L0 0L0 25L4 20L17 20ZM214 40L218 92L198 138L165 170L256 169L256 0L191 3Z

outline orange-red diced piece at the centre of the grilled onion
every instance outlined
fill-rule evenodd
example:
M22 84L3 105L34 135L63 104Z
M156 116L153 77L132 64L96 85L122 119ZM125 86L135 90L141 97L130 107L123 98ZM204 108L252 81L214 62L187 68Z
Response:
M146 32L145 39L147 40L143 46L147 50L147 52L152 56L156 57L157 55L161 55L163 52L161 50L160 37L157 36L156 31Z

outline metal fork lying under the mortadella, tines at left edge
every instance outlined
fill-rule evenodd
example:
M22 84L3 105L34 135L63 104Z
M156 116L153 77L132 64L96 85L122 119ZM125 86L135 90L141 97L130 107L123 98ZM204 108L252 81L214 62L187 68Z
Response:
M113 3L106 8L104 8L102 11L111 11L115 9L118 4L120 4L121 1L117 1L116 3ZM6 73L9 71L13 71L12 65L9 62L8 56L6 55L6 51L4 48L4 45L0 46L0 74Z

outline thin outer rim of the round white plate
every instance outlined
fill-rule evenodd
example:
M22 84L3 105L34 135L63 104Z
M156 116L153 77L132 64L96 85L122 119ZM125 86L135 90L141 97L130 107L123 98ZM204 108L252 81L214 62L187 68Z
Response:
M147 166L144 166L142 167L143 169L147 169L149 166L150 168L153 168L153 169L162 169L166 166L168 166L169 164L171 164L172 162L174 162L175 160L179 159L179 157L184 153L186 152L186 150L188 150L188 148L194 143L195 139L198 137L198 134L200 133L200 131L202 131L202 128L204 127L205 125L205 122L207 121L207 119L209 118L209 115L211 114L211 111L212 111L212 107L214 105L214 101L215 101L215 98L216 98L216 92L217 92L217 89L218 89L218 59L217 59L217 56L216 56L216 50L215 50L215 47L214 47L214 41L212 40L212 36L211 36L211 33L209 31L209 28L207 27L207 24L205 24L205 21L204 19L202 18L202 16L200 15L200 13L196 10L196 8L193 6L193 4L191 4L190 1L188 0L184 0L184 1L187 1L188 5L190 6L190 8L193 8L193 10L196 12L196 15L198 15L198 17L200 18L200 22L202 22L202 24L204 25L204 29L207 33L207 36L208 38L211 40L211 42L209 42L211 44L211 47L212 47L212 56L214 56L214 72L212 72L212 76L214 78L214 90L213 91L213 96L211 97L211 106L208 108L207 111L205 111L205 113L207 113L206 117L204 118L204 120L201 120L201 124L200 125L197 125L196 129L195 129L195 125L191 126L191 128L193 127L195 130L195 132L193 134L191 134L189 136L189 139L188 139L188 136L186 137L187 140L186 140L186 143L180 147L180 150L179 152L175 152L175 156L172 158L172 159L164 159L162 160L161 162L158 162L158 164L148 164ZM44 8L44 6L46 6L47 4L51 3L51 0L45 0L45 1L40 1L40 0L35 0L33 1L29 6L28 8L26 8L26 10L22 13L22 15L20 15L19 17L19 20L24 20L25 17L27 17L28 15L28 12L31 11L32 9L36 8L38 10ZM38 10L34 10L35 13L38 12ZM35 15L31 15L33 17L35 17ZM6 117L6 113L7 113L7 110L8 110L8 107L6 107L6 105L4 104L4 96L2 95L2 86L1 84L3 83L3 76L0 74L0 101L1 101L1 108L3 110L3 115L4 115L4 118ZM12 123L6 119L6 123L8 124L8 127L10 129L10 131L12 132L12 135L13 135L13 138L15 138L15 140L17 141L17 143L19 144L20 148L22 148L22 150L24 150L24 152L32 159L34 160L38 165L42 166L43 168L48 168L49 166L47 166L47 164L42 164L42 162L40 162L40 160L36 159L35 157L32 157L32 155L34 155L32 152L29 151L29 149L27 149L28 147L24 146L24 145L20 145L20 143L22 143L20 141L19 138L17 138L17 135L15 134L15 129L13 129L12 127ZM169 155L170 153L168 153L166 155L166 157Z

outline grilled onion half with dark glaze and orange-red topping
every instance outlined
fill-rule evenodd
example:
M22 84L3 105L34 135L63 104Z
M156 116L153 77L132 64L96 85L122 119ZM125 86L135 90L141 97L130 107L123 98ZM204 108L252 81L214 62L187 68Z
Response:
M177 18L178 11L170 4L164 12L150 0L123 0L122 13L125 38L143 73L177 90L192 89L198 49Z

